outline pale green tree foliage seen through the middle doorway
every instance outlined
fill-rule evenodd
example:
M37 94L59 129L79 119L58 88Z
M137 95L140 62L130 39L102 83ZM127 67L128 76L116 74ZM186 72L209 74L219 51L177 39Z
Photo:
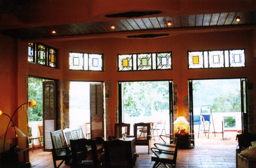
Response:
M169 110L169 82L123 82L124 111L130 117Z

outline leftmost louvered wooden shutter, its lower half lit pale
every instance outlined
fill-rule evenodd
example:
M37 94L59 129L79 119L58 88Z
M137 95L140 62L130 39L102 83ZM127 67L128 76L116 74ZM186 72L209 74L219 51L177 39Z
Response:
M52 140L50 132L56 130L56 84L55 81L43 82L43 121L44 151L50 152Z

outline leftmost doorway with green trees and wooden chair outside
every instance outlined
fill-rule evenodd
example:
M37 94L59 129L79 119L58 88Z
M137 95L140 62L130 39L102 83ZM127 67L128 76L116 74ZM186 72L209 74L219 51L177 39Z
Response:
M48 89L48 86L53 86L52 89ZM35 100L38 104L34 108L28 108L28 127L29 127L29 147L43 147L43 151L49 151L51 146L51 139L47 136L47 133L52 131L52 124L47 124L46 127L44 123L48 123L51 119L51 114L54 115L54 111L51 106L48 109L44 109L44 105L51 101L46 98L46 95L53 93L55 82L53 80L36 78L30 76L28 78L28 101ZM55 95L55 94L52 94ZM54 97L54 96L53 96ZM54 106L54 105L53 105ZM45 113L46 111L46 113ZM52 111L52 113L51 113ZM47 115L47 117L46 117ZM52 117L55 118L55 117ZM55 119L54 119L55 121ZM50 129L49 129L50 128ZM45 136L46 135L46 136ZM40 150L42 151L42 150ZM32 150L33 152L33 150ZM39 151L38 151L39 152Z

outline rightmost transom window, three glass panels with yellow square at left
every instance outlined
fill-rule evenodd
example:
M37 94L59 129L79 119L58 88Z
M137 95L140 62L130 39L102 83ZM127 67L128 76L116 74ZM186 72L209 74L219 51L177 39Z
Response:
M245 67L245 49L188 51L188 68Z

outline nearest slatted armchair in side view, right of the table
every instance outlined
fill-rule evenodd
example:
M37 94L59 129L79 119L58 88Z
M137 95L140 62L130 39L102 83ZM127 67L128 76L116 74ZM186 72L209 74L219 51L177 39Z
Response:
M163 150L161 148L151 148L153 155L151 156L151 161L155 161L153 168L159 167L161 163L167 168L169 168L169 164L175 168L176 167L176 160L178 154L178 146L179 146L179 138L180 138L180 130L178 132L178 137L176 141L176 146L174 152L170 150ZM167 165L168 164L168 165Z

